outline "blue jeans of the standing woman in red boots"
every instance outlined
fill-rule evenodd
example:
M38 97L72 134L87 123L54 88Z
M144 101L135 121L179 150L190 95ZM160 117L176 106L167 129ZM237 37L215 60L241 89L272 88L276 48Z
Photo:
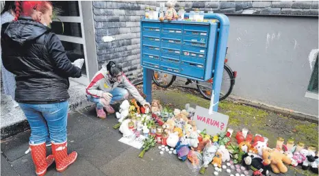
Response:
M31 127L30 144L41 144L49 138L51 142L66 141L68 101L51 104L19 103Z

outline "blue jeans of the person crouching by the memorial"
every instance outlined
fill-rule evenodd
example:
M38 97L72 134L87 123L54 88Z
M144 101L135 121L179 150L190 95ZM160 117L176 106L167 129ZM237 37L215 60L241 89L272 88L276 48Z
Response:
M113 97L110 101L110 104L113 105L115 103L118 103L118 101L123 101L123 100L127 99L129 92L124 88L114 88L110 92L110 94L113 95ZM101 103L100 98L95 98L95 97L88 95L88 101L95 103L97 105L98 110L103 109L104 105L103 105L103 103Z

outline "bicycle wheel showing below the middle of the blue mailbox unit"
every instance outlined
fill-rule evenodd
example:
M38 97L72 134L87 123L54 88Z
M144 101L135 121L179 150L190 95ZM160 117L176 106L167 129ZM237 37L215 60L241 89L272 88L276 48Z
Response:
M153 71L153 81L156 86L159 86L161 88L168 88L173 84L175 79L175 75L170 75L168 73L163 73L160 71Z

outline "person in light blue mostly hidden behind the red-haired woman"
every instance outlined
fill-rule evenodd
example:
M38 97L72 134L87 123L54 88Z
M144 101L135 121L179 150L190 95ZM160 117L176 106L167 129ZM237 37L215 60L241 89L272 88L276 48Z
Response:
M1 12L1 25L14 20L15 5L14 1L5 1L3 10ZM16 89L16 81L14 80L14 74L7 71L1 62L1 78L3 82L3 91L5 95L9 95L12 98L14 108L18 107L18 103L14 101L14 90Z

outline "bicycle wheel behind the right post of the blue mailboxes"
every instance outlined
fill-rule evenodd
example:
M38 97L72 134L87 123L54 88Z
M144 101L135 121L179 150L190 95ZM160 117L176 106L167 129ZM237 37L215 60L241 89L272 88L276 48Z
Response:
M205 99L210 100L212 97L213 78L205 82L196 81L197 88ZM235 80L233 77L233 72L231 71L231 68L225 64L224 72L222 73L222 86L220 87L219 101L226 99L231 94L234 84Z

